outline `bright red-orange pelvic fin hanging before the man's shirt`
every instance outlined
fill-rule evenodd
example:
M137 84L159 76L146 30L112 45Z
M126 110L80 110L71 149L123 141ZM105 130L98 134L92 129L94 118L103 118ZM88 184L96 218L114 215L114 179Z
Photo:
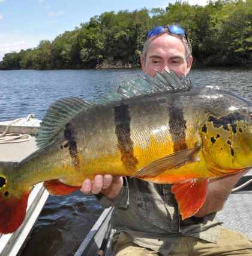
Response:
M206 199L207 186L207 178L193 179L172 185L172 193L178 201L183 220L196 214L202 207Z

